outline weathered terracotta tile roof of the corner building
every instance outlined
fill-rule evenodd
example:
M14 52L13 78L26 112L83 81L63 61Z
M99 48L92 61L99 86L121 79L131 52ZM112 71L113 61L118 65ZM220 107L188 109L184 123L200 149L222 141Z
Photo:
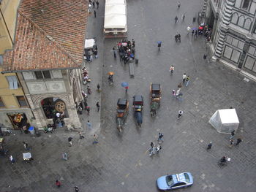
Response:
M83 62L86 0L23 0L4 71L77 68Z

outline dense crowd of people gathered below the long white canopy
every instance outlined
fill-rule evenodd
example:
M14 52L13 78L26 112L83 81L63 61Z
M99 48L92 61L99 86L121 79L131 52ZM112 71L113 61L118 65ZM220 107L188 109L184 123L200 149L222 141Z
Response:
M135 59L135 40L129 41L127 39L122 39L117 42L116 46L113 47L113 54L116 58L116 47L120 56L120 61L124 61L127 64L131 59Z

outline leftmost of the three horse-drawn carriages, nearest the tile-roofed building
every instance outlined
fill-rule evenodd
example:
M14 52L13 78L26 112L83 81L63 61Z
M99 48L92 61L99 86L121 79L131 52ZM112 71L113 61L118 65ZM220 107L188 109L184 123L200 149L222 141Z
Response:
M116 112L116 125L118 131L121 133L124 121L129 113L129 101L127 99L118 99Z

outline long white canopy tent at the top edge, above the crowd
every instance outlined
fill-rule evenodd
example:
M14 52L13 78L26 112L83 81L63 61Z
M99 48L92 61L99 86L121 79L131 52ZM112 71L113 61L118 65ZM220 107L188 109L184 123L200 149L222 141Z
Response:
M105 1L105 32L113 32L120 28L120 32L127 32L127 4L126 0ZM108 29L110 31L108 31Z

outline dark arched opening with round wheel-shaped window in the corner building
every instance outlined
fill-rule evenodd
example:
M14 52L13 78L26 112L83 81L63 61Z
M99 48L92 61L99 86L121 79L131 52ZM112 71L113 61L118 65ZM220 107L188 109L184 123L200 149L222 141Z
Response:
M64 101L55 97L48 97L41 101L45 118L52 119L54 126L64 126L64 118L68 118L67 106Z

